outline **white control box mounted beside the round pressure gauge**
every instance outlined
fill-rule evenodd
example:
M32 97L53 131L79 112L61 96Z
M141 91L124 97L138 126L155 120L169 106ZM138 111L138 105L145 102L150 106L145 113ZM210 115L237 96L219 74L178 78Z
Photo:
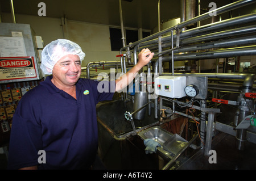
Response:
M185 95L186 77L163 75L155 78L155 94L168 98L183 98Z

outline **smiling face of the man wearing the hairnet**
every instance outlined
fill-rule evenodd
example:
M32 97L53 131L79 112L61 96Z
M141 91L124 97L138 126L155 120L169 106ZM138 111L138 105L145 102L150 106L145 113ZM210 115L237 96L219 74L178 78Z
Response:
M81 75L81 61L79 56L67 54L60 58L52 69L54 81L61 86L73 86Z

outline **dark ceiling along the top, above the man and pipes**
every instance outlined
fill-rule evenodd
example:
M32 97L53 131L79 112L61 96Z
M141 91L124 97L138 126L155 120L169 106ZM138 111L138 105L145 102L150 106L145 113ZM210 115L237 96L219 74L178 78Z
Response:
M214 0L217 7L235 0ZM119 0L13 0L15 14L38 16L39 2L46 3L46 16L88 23L120 26ZM158 0L122 0L123 24L130 28L152 30L158 27ZM161 0L162 22L180 16L181 0ZM209 9L212 0L201 1L201 9ZM0 12L11 12L10 0L0 1ZM17 22L19 23L19 22Z

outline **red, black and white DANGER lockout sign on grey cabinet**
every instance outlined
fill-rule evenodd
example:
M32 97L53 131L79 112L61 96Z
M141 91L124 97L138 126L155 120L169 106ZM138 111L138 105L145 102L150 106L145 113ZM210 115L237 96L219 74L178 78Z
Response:
M0 58L0 81L20 78L35 78L36 76L33 57Z

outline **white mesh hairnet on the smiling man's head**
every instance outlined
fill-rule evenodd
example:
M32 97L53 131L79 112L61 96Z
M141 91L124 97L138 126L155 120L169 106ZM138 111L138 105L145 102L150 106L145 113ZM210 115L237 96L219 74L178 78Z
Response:
M80 57L80 61L84 60L85 57L81 47L70 40L58 39L46 45L42 51L42 62L40 65L43 73L52 74L53 66L61 57L67 54L76 54Z

